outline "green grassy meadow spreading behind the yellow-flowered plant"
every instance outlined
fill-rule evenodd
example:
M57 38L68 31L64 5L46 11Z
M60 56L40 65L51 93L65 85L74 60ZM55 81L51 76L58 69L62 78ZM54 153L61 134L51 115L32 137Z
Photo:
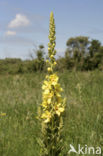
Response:
M76 149L78 144L103 149L103 72L65 71L59 76L67 98L63 153L70 144ZM0 156L39 155L37 108L44 77L44 73L0 75Z

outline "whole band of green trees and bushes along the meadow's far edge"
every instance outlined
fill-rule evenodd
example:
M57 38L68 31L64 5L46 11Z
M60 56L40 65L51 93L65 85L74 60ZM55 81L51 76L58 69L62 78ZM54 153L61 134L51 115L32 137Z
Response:
M86 36L71 37L66 42L66 50L63 57L56 59L55 70L103 70L103 46L99 40ZM43 45L33 50L36 58L31 54L31 60L6 58L0 60L0 73L25 73L46 71L46 59Z

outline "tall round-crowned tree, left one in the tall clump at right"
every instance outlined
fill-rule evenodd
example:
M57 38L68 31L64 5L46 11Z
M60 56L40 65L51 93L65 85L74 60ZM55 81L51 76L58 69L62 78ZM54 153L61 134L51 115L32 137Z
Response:
M67 49L65 56L67 56L68 53L69 57L72 59L72 64L74 62L75 69L82 68L84 64L84 58L86 57L88 52L89 44L89 38L85 36L78 36L74 38L72 37L68 39L66 43Z

